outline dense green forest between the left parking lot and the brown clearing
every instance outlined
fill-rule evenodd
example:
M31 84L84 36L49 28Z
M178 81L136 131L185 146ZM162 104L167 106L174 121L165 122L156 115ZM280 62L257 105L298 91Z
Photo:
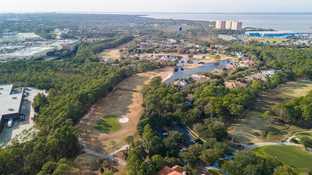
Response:
M122 38L107 43L128 41ZM49 90L49 96L38 94L34 99L33 105L39 113L36 120L39 132L33 140L22 143L14 140L14 144L0 152L2 174L33 175L43 170L40 173L45 175L52 169L68 167L62 158L73 157L80 150L79 129L75 124L92 104L133 73L130 66L117 69L98 63L93 51L97 45L81 44L77 59L69 61L16 60L0 65L0 84Z

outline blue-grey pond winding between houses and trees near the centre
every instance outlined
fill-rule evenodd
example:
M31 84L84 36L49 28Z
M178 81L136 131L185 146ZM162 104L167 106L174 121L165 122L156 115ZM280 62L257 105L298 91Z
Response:
M187 63L188 59L185 59L184 57L181 57L181 56L169 56L169 58L172 61L174 61L176 59L179 60L179 63L177 64L177 66L182 66L183 64L184 65L188 64ZM182 60L184 61L183 64L181 63ZM194 60L194 59L192 59L192 61L193 61L193 63L199 63L200 62L199 60ZM184 70L179 69L179 70L175 71L174 75L166 81L166 84L168 85L169 83L174 81L176 78L180 79L183 77L188 77L189 75L192 75L196 72L198 72L198 73L201 73L203 71L210 72L210 71L214 70L214 68L216 66L225 66L229 63L234 64L234 62L231 59L227 59L227 60L218 61L216 63L203 63L204 66L198 67L195 69L184 69Z

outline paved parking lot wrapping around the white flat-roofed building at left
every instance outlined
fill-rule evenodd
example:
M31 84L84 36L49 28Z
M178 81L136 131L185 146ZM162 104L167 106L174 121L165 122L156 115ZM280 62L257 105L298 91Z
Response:
M25 114L24 120L19 121L15 120L12 123L12 127L8 127L7 122L3 123L4 127L2 129L2 132L0 133L0 144L4 144L2 140L11 140L15 138L15 136L20 135L22 136L22 131L24 129L31 128L35 123L33 120L31 120L31 116L34 116L34 109L32 108L32 100L33 98L39 93L44 93L42 90L39 90L37 88L25 88L25 93L28 92L28 95L24 97L24 100L22 102L21 106L21 113ZM44 93L47 95L47 93ZM19 141L21 137L19 137Z

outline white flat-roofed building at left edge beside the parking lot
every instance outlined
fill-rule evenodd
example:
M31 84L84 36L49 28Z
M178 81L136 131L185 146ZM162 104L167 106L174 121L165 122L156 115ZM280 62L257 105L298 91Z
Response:
M20 115L24 88L14 90L13 85L0 85L0 131L4 121Z

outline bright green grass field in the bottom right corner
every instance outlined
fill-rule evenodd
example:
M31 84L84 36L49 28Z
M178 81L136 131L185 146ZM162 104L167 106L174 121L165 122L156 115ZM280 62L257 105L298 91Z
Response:
M312 170L312 155L302 151L301 147L272 145L258 147L253 150L259 156L277 156L278 160L299 171Z

